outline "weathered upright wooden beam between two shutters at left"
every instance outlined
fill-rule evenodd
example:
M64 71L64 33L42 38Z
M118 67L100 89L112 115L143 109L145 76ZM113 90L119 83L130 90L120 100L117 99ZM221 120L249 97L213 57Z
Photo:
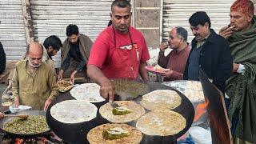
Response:
M24 28L26 32L26 43L34 42L33 34L33 21L32 14L30 10L30 0L21 0L22 1L22 17L24 21Z

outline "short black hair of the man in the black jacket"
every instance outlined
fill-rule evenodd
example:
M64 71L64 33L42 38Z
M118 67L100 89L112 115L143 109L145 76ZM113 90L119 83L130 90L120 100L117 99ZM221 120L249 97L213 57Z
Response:
M194 14L192 14L189 19L189 22L191 26L204 26L206 22L208 22L210 28L210 18L205 11L197 11Z

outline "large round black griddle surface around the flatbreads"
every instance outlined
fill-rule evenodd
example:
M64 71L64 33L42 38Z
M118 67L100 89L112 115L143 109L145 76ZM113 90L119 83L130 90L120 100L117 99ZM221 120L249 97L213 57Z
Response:
M138 82L138 81L137 81ZM154 90L174 90L173 88L169 86L162 85L158 82L142 82L147 85L147 92L151 92ZM182 136L182 134L185 134L186 131L190 128L193 120L194 120L194 107L190 100L186 98L185 95L180 93L178 90L176 91L182 98L182 104L174 109L175 112L178 112L179 114L182 114L184 118L186 118L186 127L180 131L178 134L170 135L170 136L149 136L146 134L143 134L142 142L141 143L170 143L175 142L177 138ZM127 94L129 95L129 94ZM121 96L116 96L115 98L122 100ZM102 116L97 112L97 117L92 119L90 122L81 122L76 124L67 124L58 122L50 115L50 108L55 103L62 102L65 100L74 99L69 92L63 93L58 98L54 100L54 102L51 103L48 110L46 111L46 121L48 125L50 126L51 130L54 131L54 134L57 134L59 138L62 138L65 142L68 143L89 143L86 139L86 135L95 126L102 125L104 123L111 123L108 122L105 118L102 118ZM127 99L127 98L126 98ZM137 98L128 98L130 100L133 100L134 102L140 102L142 99L142 96L139 95ZM94 103L95 106L100 108L100 106L106 104L108 101L105 102L97 102ZM148 110L146 110L146 113ZM136 127L136 122L128 122L130 126Z

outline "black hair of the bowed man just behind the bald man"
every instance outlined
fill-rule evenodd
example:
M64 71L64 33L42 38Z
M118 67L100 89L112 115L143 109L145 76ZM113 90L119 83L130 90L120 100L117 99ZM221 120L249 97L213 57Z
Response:
M43 42L43 46L45 46L46 49L49 49L49 47L52 46L54 50L59 50L62 47L62 41L58 36L51 35Z

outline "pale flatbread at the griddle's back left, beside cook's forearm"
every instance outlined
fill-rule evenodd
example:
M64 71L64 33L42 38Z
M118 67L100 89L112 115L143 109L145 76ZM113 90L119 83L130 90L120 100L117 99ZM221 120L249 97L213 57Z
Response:
M86 102L103 102L104 98L99 94L100 86L96 83L83 83L70 90L70 94L77 100Z

